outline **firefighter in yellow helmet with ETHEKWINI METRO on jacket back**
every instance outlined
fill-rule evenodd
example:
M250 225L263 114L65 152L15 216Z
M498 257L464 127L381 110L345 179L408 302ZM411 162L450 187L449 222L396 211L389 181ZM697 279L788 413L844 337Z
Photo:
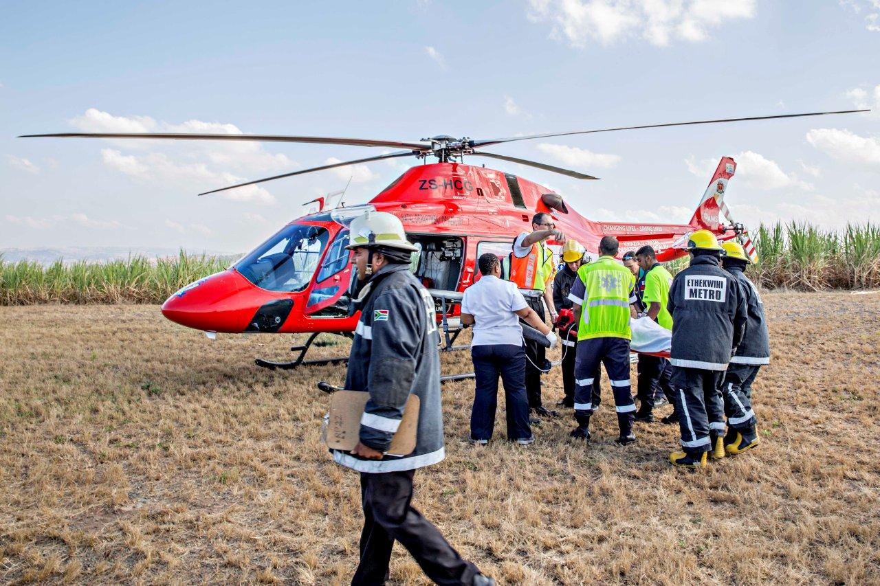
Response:
M743 340L744 294L737 279L720 266L723 249L708 230L687 242L691 264L672 280L667 310L672 323L672 387L684 451L673 465L702 467L711 451L725 454L721 383L730 357Z

